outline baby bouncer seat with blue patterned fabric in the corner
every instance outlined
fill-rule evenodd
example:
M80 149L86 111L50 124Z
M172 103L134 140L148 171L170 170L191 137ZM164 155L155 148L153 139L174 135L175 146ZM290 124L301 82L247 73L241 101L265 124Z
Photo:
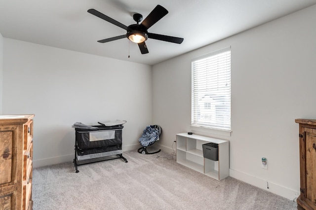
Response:
M159 137L161 135L161 127L158 125L149 125L147 126L144 131L142 136L139 138L140 144L143 146L138 149L138 152L141 154L155 154L161 151L159 149L158 151L155 152L149 152L147 151L147 147L150 145L153 145L156 141L159 140Z

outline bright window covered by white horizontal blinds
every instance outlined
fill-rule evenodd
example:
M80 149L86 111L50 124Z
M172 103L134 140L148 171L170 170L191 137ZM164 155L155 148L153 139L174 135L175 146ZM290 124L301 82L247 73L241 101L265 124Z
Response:
M231 49L192 61L191 125L231 130Z

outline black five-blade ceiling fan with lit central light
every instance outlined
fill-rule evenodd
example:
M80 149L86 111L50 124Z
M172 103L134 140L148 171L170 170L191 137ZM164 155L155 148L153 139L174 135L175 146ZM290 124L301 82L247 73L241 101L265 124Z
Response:
M173 42L177 44L181 44L183 41L183 38L168 36L168 35L153 34L147 31L150 27L152 27L155 23L157 23L158 20L160 20L162 17L168 14L168 10L166 10L163 6L160 6L160 5L157 5L153 9L153 11L144 19L144 21L141 24L139 24L139 22L143 20L143 15L139 13L135 13L133 15L133 19L137 22L137 24L132 24L129 26L125 26L124 24L119 23L118 21L110 18L109 16L106 16L105 14L102 14L101 12L95 9L89 9L88 12L126 30L125 35L118 35L115 37L102 39L98 41L100 43L105 43L105 42L114 41L117 39L127 37L132 42L135 42L138 44L139 49L142 54L146 54L146 53L149 53L146 43L145 43L145 41L148 38Z

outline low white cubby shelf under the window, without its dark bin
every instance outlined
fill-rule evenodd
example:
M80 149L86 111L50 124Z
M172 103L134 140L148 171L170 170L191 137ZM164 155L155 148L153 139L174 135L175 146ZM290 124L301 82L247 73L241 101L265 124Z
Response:
M229 176L229 141L187 133L176 134L177 163L217 180ZM203 157L202 144L218 144L218 161Z

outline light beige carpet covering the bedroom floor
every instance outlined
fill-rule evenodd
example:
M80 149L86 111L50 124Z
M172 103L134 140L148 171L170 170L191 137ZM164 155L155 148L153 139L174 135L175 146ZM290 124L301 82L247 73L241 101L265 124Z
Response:
M227 177L221 181L170 154L123 152L121 159L33 171L34 210L296 210L297 204ZM159 157L160 156L160 157ZM167 158L161 158L167 157Z

